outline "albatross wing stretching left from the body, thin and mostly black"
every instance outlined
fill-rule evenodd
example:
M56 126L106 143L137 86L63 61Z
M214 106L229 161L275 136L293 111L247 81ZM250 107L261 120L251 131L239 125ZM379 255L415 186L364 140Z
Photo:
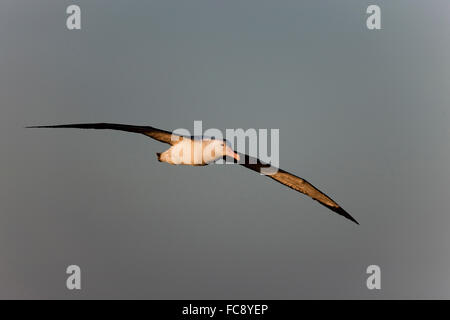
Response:
M141 133L155 140L174 145L182 140L182 136L173 134L169 131L148 127L148 126L131 126L127 124L117 123L78 123L78 124L61 124L53 126L32 126L27 128L76 128L76 129L109 129L120 130L126 132Z

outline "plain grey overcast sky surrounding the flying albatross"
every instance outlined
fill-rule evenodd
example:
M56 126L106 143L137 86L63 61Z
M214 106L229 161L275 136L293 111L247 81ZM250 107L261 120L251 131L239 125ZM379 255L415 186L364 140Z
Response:
M446 0L2 0L0 298L450 298L449 15ZM167 145L143 136L24 129L194 120L280 129L280 166L361 225L242 167L159 163Z

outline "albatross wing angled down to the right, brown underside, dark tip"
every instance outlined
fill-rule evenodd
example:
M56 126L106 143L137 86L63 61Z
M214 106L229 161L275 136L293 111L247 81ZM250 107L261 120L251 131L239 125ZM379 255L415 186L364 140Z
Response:
M272 178L273 180L281 184L284 184L285 186L288 186L291 189L306 194L307 196L313 198L314 200L319 202L321 205L327 207L328 209L336 212L337 214L340 214L341 216L344 216L345 218L353 221L356 224L359 224L358 221L356 221L350 214L348 214L344 209L342 209L341 206L339 206L333 199L328 197L322 191L318 190L316 187L314 187L311 183L309 183L305 179L297 177L282 169L273 167L271 168L269 164L265 164L257 158L253 158L245 154L240 154L240 157L241 157L241 161L239 162L240 165L250 170L256 171L260 174L264 174L269 178ZM271 169L269 170L269 168ZM265 173L264 169L266 169L268 173Z

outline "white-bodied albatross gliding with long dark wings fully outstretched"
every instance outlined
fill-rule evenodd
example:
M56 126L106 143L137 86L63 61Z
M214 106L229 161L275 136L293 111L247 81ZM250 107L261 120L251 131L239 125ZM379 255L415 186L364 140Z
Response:
M339 204L305 179L279 168L275 168L275 170L271 170L270 173L267 173L267 171L269 171L267 169L272 168L270 164L263 163L258 158L250 157L247 154L235 152L231 148L230 143L224 139L182 136L150 126L133 126L116 123L79 123L31 126L27 128L107 129L143 134L147 137L169 144L169 149L162 153L157 153L156 155L158 161L174 165L205 166L219 159L231 157L234 158L239 165L265 175L295 191L301 192L333 212L359 224L348 212L342 209ZM207 152L205 152L205 150L207 150Z

